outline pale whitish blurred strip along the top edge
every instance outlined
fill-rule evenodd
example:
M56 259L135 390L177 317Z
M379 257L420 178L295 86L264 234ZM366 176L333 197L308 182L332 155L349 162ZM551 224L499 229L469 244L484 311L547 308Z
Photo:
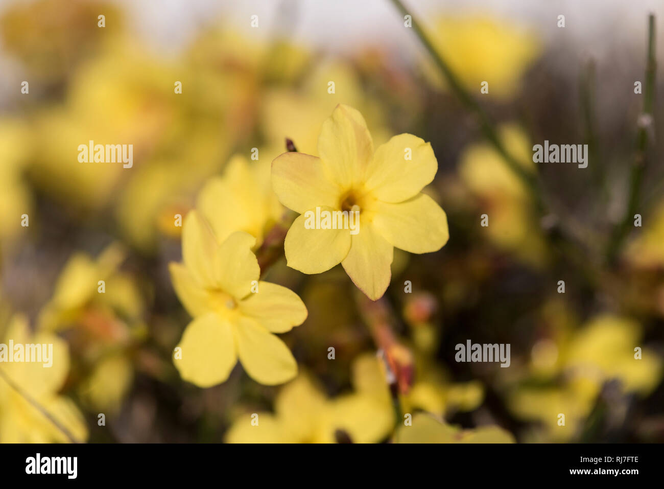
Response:
M13 3L31 0L0 0L0 11ZM61 0L66 2L68 0ZM203 26L223 19L239 31L269 37L278 25L276 13L294 6L293 41L330 52L353 52L358 45L378 44L412 56L421 49L413 33L389 0L111 0L124 5L129 25L146 43L175 54ZM493 13L521 23L539 33L549 44L574 43L579 56L601 59L612 47L645 46L647 14L657 15L657 52L664 58L664 0L404 0L419 19L440 12ZM260 28L250 27L258 15ZM558 15L566 27L558 29ZM284 24L284 23L282 23ZM290 28L288 28L290 29ZM643 50L645 58L645 49Z

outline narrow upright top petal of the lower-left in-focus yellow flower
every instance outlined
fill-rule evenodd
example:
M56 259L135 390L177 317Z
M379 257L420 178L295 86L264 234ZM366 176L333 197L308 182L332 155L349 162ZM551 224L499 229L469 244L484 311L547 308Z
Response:
M216 248L212 229L205 219L197 211L187 214L182 228L182 258L193 277L202 285L216 285Z

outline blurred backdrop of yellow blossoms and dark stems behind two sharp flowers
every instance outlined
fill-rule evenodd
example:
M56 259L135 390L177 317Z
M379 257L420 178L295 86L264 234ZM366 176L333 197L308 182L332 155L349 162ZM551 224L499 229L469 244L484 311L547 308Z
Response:
M250 413L272 413L280 441L398 440L403 413L463 433L497 426L517 442L664 441L664 148L652 125L642 226L616 231L637 152L648 15L661 25L664 5L410 4L540 183L537 195L388 0L0 2L0 342L48 338L69 359L49 379L17 373L21 392L0 378L0 442L254 441L238 424ZM432 143L439 169L425 191L448 215L449 243L395 250L378 312L341 267L307 276L278 260L266 279L309 310L281 336L300 377L269 387L238 365L209 389L183 381L172 352L190 318L167 268L181 260L173 217L197 206L211 179L270 192L264 174L233 181L226 163L258 148L249 164L269 172L285 138L317 154L339 103L362 112L375 146L402 132ZM655 127L662 109L655 96ZM88 140L133 144L133 167L80 163ZM544 140L588 144L588 168L536 165L532 147ZM376 342L377 323L388 324L392 351ZM457 363L454 345L466 340L510 343L511 366ZM398 393L380 349L408 367ZM366 409L344 411L350 396ZM332 414L312 423L325 436L298 433L297 419L321 405ZM342 412L353 428L340 432Z

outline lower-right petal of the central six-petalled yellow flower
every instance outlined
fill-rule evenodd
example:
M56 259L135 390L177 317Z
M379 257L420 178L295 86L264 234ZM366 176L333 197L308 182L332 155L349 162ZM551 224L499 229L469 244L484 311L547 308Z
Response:
M448 218L428 195L398 204L376 201L373 225L389 243L411 253L437 251L448 242Z

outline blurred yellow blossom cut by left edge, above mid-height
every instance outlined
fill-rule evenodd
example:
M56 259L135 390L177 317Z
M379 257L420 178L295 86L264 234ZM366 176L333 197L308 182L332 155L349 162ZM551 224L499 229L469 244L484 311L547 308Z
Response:
M0 242L21 231L23 214L34 219L33 200L21 174L29 147L26 131L17 120L0 120Z

